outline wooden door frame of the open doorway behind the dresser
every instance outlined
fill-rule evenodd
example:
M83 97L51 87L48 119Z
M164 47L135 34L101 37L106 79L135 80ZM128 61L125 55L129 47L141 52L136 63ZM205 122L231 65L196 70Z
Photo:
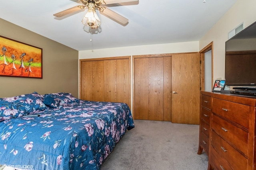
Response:
M200 89L202 91L204 91L204 83L205 83L205 77L204 77L204 53L208 52L212 50L212 82L211 84L213 85L213 41L211 43L209 43L208 45L206 45L206 47L204 47L201 51L199 51L200 53L200 79L201 79L201 87Z

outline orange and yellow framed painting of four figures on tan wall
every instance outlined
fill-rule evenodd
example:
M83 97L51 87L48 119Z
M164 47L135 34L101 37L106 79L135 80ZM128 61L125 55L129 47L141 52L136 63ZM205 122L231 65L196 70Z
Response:
M42 49L0 36L0 76L43 78Z

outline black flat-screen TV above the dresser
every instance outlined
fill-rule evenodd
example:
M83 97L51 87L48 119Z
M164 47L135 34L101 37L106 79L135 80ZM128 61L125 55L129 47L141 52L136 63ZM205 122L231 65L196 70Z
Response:
M226 41L225 84L256 86L256 22Z

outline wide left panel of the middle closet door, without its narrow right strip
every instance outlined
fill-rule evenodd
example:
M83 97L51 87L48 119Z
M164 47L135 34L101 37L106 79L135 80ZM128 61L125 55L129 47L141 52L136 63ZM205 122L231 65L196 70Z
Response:
M134 118L163 120L163 57L134 59Z

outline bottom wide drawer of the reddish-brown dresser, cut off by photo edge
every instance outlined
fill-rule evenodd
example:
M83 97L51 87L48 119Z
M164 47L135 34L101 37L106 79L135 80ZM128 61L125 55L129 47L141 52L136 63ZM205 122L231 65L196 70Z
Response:
M232 170L232 168L226 163L226 161L211 147L211 162L214 170Z

